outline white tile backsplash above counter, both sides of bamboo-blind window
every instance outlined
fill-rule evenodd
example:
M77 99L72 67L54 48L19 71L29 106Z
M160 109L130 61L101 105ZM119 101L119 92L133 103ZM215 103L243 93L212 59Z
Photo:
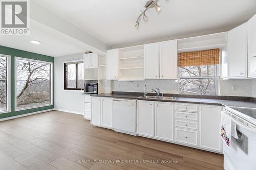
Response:
M145 81L117 81L111 82L112 91L144 92L144 85L147 85L147 92L156 87L164 93L178 93L177 80L145 80ZM237 90L233 89L237 86ZM254 96L256 97L256 80L221 80L221 95Z

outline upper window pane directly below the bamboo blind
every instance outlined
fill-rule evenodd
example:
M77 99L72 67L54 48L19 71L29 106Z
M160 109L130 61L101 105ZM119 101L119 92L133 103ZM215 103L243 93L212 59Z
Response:
M217 65L179 67L179 77L217 76Z

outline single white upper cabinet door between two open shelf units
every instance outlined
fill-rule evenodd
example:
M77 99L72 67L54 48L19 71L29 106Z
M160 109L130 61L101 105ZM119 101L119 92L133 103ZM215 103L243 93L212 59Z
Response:
M106 79L118 79L118 56L119 50L113 49L106 51Z

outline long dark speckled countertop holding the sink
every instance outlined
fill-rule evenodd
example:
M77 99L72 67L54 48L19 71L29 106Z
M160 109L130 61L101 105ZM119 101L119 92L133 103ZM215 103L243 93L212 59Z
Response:
M254 98L241 97L241 96L198 96L198 95L183 95L183 94L164 94L164 96L176 96L176 100L163 100L163 99L148 99L139 98L143 93L134 92L113 92L112 94L91 94L91 96L99 96L104 98L117 98L117 99L135 99L146 101L159 101L159 102L179 102L179 103L195 103L228 107L245 107L256 108ZM152 94L149 94L152 95ZM191 98L195 96L196 98ZM207 98L207 99L205 99ZM214 99L210 99L214 98Z

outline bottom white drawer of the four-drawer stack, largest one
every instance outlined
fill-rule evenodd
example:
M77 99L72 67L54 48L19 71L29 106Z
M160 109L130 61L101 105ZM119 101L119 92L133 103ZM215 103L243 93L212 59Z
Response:
M198 132L176 129L176 141L191 145L197 145Z

